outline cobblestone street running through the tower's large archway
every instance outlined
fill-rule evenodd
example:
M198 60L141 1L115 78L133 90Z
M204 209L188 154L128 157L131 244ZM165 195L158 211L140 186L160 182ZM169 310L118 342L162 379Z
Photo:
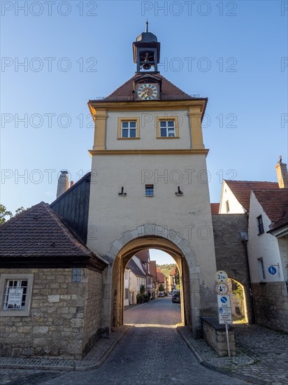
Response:
M99 369L47 372L21 371L10 385L134 385L134 384L247 384L199 365L192 351L179 335L180 304L171 297L133 307L125 311L124 321L131 325L127 335ZM12 370L2 370L4 374ZM15 371L14 371L15 372ZM7 375L6 375L7 379ZM2 382L4 384L4 382Z

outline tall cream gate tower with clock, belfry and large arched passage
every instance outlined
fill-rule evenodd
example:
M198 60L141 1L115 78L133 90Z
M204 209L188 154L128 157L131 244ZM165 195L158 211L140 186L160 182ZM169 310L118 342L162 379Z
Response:
M87 244L109 262L103 274L102 328L123 319L123 273L143 248L159 248L182 274L182 322L201 331L216 307L216 272L201 121L207 98L186 94L157 69L160 43L134 42L135 75L103 99L94 119ZM90 231L89 231L90 230Z

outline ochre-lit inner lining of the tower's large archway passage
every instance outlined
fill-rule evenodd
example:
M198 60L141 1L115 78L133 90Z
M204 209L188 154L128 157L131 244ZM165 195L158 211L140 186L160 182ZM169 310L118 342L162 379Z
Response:
M139 251L147 248L156 248L165 251L178 266L180 274L181 292L181 324L189 325L193 328L193 318L191 312L192 298L190 296L189 267L185 255L180 248L175 246L172 241L162 237L138 237L129 241L117 254L113 263L112 273L112 314L111 321L113 326L124 323L124 270L129 260Z

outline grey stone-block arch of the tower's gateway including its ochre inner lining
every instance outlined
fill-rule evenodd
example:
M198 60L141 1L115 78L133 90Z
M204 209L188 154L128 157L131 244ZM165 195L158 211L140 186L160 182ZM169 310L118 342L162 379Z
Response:
M180 267L185 304L182 319L192 328L195 336L201 334L200 267L189 242L175 230L147 223L127 230L115 239L106 254L110 265L104 274L103 327L122 324L122 276L128 260L143 248L159 248L169 253Z

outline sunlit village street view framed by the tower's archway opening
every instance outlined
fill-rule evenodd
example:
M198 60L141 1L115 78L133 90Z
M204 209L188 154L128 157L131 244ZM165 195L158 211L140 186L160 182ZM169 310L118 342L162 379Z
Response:
M182 325L180 286L178 265L171 255L155 248L134 255L124 274L124 324L166 328Z

